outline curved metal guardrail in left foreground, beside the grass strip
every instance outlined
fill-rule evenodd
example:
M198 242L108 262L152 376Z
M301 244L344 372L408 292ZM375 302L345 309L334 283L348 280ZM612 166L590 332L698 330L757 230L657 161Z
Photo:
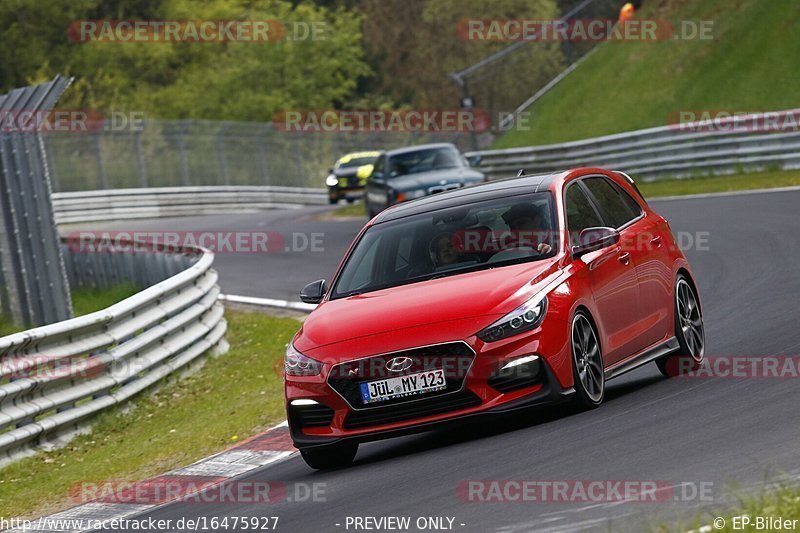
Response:
M152 286L102 311L0 338L0 463L227 347L211 252L96 242L62 239L73 284Z

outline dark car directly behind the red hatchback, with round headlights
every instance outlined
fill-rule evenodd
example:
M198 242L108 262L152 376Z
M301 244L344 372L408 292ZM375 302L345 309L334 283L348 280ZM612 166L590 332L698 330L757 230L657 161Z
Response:
M364 206L372 218L391 205L483 181L483 173L472 168L452 144L398 148L375 161L364 190Z

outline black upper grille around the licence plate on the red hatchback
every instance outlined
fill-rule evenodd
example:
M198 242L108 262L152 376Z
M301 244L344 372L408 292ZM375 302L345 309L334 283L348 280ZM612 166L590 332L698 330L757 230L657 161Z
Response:
M402 372L390 372L387 370L386 363L398 357L411 359L411 366ZM356 410L381 409L385 406L408 402L420 396L432 398L460 390L474 358L475 352L464 342L413 348L402 352L376 355L340 363L331 370L328 376L328 384ZM362 382L400 377L434 369L444 370L447 385L444 389L420 396L395 398L379 404L364 404L360 389Z

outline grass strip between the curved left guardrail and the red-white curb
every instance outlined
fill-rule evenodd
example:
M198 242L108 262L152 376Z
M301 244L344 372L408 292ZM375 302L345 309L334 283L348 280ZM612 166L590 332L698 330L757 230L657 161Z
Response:
M68 446L0 469L0 516L73 504L81 481L141 480L190 464L283 419L280 369L297 320L226 311L230 351L154 394L103 413Z

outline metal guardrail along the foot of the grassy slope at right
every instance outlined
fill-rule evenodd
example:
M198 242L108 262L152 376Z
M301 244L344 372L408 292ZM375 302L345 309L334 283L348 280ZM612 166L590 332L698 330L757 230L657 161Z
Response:
M616 168L645 181L764 168L797 169L799 120L800 110L788 110L467 155L480 155L481 170L492 179L514 176L521 168L539 173L580 166Z

